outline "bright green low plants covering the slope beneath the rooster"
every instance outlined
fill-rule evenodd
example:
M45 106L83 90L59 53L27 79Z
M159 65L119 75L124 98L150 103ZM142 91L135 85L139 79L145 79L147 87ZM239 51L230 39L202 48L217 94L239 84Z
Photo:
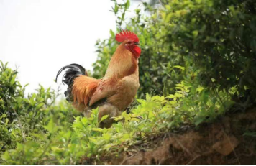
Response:
M9 95L0 97L12 98L12 102L1 102L3 165L83 164L82 159L117 155L151 134L168 132L183 124L197 126L212 121L230 106L226 94L220 93L217 98L203 87L191 91L190 83L183 81L167 97L147 94L145 100L137 99L140 104L132 109L132 114L124 112L116 117L119 123L111 129L99 129L98 109L92 111L91 118L78 116L65 102L53 104L58 93L42 86L37 93L24 96L25 88L15 79L17 71L2 64L0 72L1 85L6 87L1 88L1 94ZM13 79L14 83L9 84Z

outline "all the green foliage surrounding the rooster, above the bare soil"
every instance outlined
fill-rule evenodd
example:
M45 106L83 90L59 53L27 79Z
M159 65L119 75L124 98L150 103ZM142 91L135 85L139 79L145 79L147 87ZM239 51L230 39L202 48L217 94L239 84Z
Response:
M25 95L17 70L0 66L0 164L78 165L127 151L152 134L214 121L238 96L255 99L255 1L162 0L125 19L130 1L114 0L117 30L140 37L140 92L131 114L99 129L98 109L85 118L58 92ZM154 3L152 3L154 4ZM116 50L115 32L96 43L93 76L104 76ZM247 104L247 103L246 103ZM246 104L243 109L246 108ZM107 118L105 116L104 118ZM246 132L244 137L255 137Z

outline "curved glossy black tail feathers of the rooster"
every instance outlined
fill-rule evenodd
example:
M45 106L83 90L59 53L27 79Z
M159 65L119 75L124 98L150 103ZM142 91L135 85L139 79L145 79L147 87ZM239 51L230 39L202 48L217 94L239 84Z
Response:
M58 76L60 75L60 73L62 73L63 70L66 70L66 69L68 69L68 70L65 71L65 74L63 75L62 82L63 82L63 84L68 85L68 90L65 91L65 96L66 96L67 101L72 101L73 97L70 96L70 93L72 91L73 80L75 80L75 78L77 78L80 75L87 76L88 74L86 72L86 69L83 68L83 66L78 65L78 64L70 64L70 65L67 65L59 70L59 72L56 76L56 82L57 82L57 79L58 79Z

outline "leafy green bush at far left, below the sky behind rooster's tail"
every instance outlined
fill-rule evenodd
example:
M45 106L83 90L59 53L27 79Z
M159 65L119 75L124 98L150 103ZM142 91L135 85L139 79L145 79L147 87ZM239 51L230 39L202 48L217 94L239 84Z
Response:
M54 106L58 93L40 86L37 93L25 96L26 86L22 87L16 78L17 70L12 70L7 64L1 63L0 155L15 147L19 149L24 146L22 144L32 140L38 141L37 136L47 135L45 126L51 119L54 119L55 124L61 124L63 127L73 121L73 109L70 106L63 102ZM35 149L39 150L37 147ZM19 155L19 157L24 156Z

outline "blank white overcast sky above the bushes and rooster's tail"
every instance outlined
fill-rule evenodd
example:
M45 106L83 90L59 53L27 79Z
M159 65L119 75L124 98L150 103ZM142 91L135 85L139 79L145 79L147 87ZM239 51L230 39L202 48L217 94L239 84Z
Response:
M95 43L116 29L110 0L0 0L0 60L19 70L27 92L57 88L56 73L78 63L92 70ZM132 4L133 8L137 4Z

